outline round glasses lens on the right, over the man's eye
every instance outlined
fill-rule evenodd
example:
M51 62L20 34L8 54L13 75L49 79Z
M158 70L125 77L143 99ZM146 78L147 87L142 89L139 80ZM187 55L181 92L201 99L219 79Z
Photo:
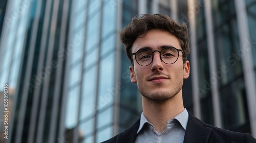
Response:
M177 61L179 52L174 47L165 47L161 50L162 61L166 64L173 64Z

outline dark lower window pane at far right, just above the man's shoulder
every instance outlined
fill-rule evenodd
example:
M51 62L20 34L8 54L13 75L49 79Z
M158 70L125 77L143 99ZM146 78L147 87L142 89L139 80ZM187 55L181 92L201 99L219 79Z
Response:
M249 122L243 78L222 89L220 101L225 129L236 131Z

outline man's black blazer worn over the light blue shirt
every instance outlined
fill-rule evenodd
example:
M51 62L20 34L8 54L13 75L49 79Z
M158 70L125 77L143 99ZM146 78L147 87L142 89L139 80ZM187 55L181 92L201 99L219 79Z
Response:
M103 143L135 142L139 125L140 118L132 127ZM188 112L184 142L256 142L256 139L248 133L232 132L205 124Z

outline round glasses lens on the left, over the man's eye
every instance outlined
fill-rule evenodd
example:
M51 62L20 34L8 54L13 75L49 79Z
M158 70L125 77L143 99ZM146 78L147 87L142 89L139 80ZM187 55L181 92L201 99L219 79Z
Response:
M142 66L147 66L152 61L152 52L148 49L141 49L136 53L136 61Z

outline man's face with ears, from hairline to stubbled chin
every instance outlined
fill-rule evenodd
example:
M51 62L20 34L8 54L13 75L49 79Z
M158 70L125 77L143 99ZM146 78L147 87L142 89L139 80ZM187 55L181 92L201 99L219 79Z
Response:
M179 40L167 31L150 30L144 37L138 37L132 46L132 53L147 47L151 51L161 51L164 46L173 46L181 50ZM160 53L154 52L150 65L141 66L133 55L134 67L130 66L131 81L137 82L142 96L153 101L166 101L176 94L182 94L183 79L189 76L189 62L183 63L182 52L173 64L165 64Z

